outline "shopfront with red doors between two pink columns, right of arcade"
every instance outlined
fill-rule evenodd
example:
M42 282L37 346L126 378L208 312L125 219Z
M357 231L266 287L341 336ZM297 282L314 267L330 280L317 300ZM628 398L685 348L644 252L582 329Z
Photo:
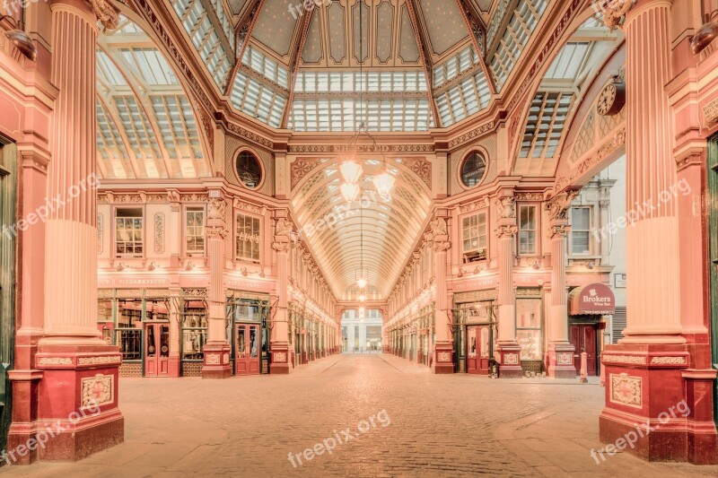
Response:
M489 374L498 337L495 300L495 289L454 294L451 330L455 371Z

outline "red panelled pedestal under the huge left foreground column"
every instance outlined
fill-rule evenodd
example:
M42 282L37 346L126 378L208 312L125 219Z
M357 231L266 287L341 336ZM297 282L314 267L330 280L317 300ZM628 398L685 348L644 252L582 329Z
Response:
M120 361L114 346L39 346L31 376L13 377L22 378L13 399L36 396L37 415L27 422L14 417L6 448L11 465L76 461L122 443Z

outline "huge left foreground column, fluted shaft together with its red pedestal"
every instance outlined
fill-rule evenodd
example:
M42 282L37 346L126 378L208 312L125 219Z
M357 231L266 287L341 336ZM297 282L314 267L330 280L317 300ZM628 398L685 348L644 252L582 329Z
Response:
M38 458L76 460L123 441L124 419L118 409L120 355L101 340L97 328L97 198L92 186L97 184L98 15L89 4L73 0L55 1L51 10L51 78L58 95L50 128L48 197L65 204L57 204L46 223L44 336L35 356L36 369L42 370L37 422L17 423L16 430L58 423L64 431L38 449ZM106 27L116 26L112 7L100 16Z

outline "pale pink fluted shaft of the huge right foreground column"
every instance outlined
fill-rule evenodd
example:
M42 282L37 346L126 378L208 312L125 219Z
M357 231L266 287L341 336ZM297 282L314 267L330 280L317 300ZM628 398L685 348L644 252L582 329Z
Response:
M626 13L626 208L641 210L626 230L627 326L622 343L685 343L679 334L679 220L673 191L675 127L670 82L669 0ZM629 215L630 217L630 215Z

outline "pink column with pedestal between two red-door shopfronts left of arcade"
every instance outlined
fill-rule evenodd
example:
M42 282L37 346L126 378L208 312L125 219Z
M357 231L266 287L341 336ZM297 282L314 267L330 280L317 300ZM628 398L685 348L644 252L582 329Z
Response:
M209 290L207 302L207 343L203 349L202 378L232 376L230 344L227 342L226 296L224 292L224 239L227 237L227 202L222 192L210 190L207 204L207 257Z

